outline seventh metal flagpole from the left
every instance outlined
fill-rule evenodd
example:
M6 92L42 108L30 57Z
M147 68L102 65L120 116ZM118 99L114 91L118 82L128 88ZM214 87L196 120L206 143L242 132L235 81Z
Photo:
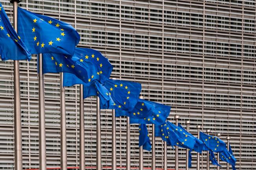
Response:
M131 139L130 139L130 117L126 116L126 170L131 170Z

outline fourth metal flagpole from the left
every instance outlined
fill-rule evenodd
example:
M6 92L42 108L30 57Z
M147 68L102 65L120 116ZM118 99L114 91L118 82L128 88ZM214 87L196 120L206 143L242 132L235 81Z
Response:
M80 98L79 98L79 110L80 110L80 125L79 125L79 169L85 169L85 151L84 151L84 108L83 108L83 85L80 84Z

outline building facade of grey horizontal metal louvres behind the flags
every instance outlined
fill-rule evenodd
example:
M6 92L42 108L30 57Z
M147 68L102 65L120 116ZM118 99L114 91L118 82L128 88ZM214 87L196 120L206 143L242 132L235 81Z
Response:
M10 20L12 5L0 0ZM171 105L190 132L221 133L237 169L256 170L255 0L22 0L20 7L71 24L79 46L96 49L114 66L112 77L142 84L145 99ZM60 166L60 76L45 75L47 167ZM23 168L39 167L37 60L20 62ZM85 107L85 165L96 165L96 98ZM0 169L14 169L13 62L0 61ZM79 87L66 88L68 166L79 166ZM151 126L148 126L151 134ZM101 111L102 166L111 166L111 110ZM139 161L131 126L131 166ZM168 168L174 149L168 146ZM193 155L192 169L196 167ZM179 168L186 151L179 149ZM200 163L201 164L201 163ZM117 118L117 166L126 165L126 118ZM221 170L226 163L221 161ZM151 152L144 152L151 166ZM163 143L156 138L156 167ZM211 168L214 166L211 165ZM203 154L203 169L206 153Z

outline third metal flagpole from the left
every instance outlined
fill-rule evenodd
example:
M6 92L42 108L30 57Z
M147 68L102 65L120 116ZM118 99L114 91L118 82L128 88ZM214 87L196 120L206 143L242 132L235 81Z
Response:
M63 72L60 73L60 167L67 169L67 134L66 134L66 103L65 88L63 87Z

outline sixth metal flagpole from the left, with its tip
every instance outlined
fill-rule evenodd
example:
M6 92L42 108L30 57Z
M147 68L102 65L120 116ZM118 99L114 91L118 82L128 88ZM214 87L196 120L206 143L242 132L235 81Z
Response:
M116 78L112 78L116 80ZM116 141L116 126L115 126L115 109L112 109L112 170L117 169L117 141ZM121 165L122 166L122 165Z

